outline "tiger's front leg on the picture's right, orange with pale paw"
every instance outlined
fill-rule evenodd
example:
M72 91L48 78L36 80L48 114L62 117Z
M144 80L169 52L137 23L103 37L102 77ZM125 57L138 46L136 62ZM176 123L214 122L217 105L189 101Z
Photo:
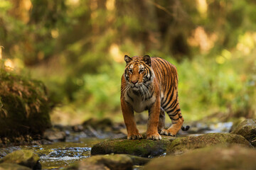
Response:
M160 97L156 97L156 102L149 108L149 120L146 130L146 139L161 140L161 135L158 132L160 114Z

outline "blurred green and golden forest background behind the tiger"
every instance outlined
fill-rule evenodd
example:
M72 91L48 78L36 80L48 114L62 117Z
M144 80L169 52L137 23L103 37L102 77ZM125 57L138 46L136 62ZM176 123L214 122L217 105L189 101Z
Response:
M0 46L46 84L54 124L122 122L124 55L176 65L186 120L255 118L254 0L0 0Z

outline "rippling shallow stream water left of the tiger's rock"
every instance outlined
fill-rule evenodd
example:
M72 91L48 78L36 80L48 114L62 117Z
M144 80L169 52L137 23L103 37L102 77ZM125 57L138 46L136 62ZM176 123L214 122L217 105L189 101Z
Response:
M50 145L33 145L1 148L1 154L8 154L18 149L33 149L40 157L42 169L59 169L73 162L90 157L93 145L102 140L80 139L81 142L54 142ZM3 155L4 156L4 155Z

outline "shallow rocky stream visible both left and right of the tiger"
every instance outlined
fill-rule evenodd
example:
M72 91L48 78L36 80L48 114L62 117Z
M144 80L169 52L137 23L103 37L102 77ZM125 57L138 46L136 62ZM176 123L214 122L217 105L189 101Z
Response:
M191 130L188 132L180 132L179 136L186 136L191 134L204 134L209 132L229 132L233 123L215 123L206 125L204 123L195 123L191 125ZM73 135L78 138L78 134ZM40 157L42 169L60 169L64 166L78 162L80 159L90 157L90 150L97 142L104 139L98 137L79 137L79 140L65 140L65 142L52 142L48 145L31 145L18 147L0 148L0 159L6 154L14 152L18 149L33 149ZM72 141L72 142L67 142ZM134 167L140 169L140 167Z

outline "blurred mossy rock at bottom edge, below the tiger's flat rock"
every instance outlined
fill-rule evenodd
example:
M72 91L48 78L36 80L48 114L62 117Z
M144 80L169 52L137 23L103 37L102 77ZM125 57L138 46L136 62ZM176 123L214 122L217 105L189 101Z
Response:
M132 169L132 159L125 154L97 155L84 159L78 164L73 164L66 169Z

